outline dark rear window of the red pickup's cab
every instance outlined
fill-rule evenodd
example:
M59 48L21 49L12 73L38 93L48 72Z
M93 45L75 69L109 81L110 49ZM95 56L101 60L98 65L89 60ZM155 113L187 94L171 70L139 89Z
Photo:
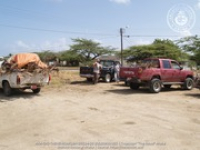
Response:
M145 68L160 68L160 63L156 59L145 59L141 62L141 66Z

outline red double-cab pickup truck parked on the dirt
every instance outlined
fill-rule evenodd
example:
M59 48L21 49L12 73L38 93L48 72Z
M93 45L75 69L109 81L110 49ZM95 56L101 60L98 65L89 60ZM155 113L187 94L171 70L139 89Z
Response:
M171 59L148 58L139 66L121 67L120 78L128 81L131 89L145 85L152 93L175 84L186 90L191 90L194 86L193 72L183 70L177 61Z

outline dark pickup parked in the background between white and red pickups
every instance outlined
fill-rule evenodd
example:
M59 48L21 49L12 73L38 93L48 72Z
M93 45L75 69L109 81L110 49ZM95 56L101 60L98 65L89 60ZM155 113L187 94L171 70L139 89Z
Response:
M111 82L114 79L114 64L119 61L100 60L102 66L100 70L100 78L105 82ZM88 81L93 80L93 67L80 67L80 77L87 78Z

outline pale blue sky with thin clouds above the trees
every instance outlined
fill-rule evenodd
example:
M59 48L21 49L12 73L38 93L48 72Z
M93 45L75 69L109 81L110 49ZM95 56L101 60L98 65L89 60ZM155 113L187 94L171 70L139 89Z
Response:
M187 4L196 15L191 30L178 33L167 23L169 10ZM4 0L0 2L0 56L69 49L72 38L120 48L200 34L200 0Z

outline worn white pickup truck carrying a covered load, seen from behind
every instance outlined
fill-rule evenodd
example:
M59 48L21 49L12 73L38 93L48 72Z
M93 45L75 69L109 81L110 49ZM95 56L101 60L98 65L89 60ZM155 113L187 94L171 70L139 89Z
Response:
M26 70L0 71L0 88L6 96L10 96L14 89L31 89L39 93L42 86L51 80L49 70L39 69L32 72Z

